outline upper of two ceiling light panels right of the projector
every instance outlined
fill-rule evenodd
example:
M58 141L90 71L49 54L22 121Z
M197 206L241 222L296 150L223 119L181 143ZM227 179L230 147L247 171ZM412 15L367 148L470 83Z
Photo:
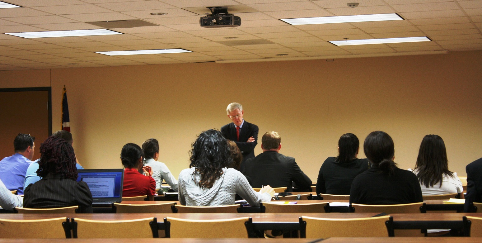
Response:
M348 15L348 16L329 16L314 18L293 18L281 19L290 25L316 25L316 24L334 24L334 23L353 23L368 21L387 21L387 20L403 20L398 14L365 14L365 15Z

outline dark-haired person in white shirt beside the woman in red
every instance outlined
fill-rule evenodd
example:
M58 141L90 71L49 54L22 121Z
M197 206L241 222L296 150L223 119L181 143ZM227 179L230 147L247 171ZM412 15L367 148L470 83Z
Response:
M152 178L156 180L156 189L160 189L162 180L165 180L171 189L177 191L177 180L169 171L166 164L158 162L159 159L159 142L155 138L147 139L142 144L144 150L144 165L152 168Z

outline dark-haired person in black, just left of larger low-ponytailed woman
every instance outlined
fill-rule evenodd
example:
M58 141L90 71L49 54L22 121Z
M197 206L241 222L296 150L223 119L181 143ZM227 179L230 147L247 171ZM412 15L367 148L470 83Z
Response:
M354 134L347 133L338 140L338 157L328 157L323 162L316 182L316 194L350 194L351 182L355 176L368 170L367 159L357 159L360 141Z

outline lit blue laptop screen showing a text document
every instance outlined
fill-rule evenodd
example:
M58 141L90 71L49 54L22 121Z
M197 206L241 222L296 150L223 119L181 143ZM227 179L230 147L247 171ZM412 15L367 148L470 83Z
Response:
M87 183L93 198L119 198L122 172L80 172L77 181Z

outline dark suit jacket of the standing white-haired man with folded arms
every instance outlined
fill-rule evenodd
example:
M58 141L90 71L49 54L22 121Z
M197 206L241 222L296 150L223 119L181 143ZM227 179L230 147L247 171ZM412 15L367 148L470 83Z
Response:
M254 147L256 147L258 144L258 131L258 126L244 120L244 124L242 125L240 131L240 141L238 142L238 137L236 136L236 125L234 123L231 122L221 127L221 133L223 136L229 140L233 140L241 150L241 154L244 157L243 162L241 163L241 171L244 167L244 162L247 159L254 157ZM254 137L254 142L246 142L250 137Z

